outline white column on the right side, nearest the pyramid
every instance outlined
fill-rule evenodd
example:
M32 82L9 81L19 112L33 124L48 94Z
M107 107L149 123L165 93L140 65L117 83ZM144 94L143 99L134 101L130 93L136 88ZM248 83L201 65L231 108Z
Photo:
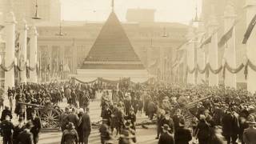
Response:
M187 63L187 68L190 70L194 70L195 67L195 62L194 62L194 28L193 28L193 23L190 22L190 28L189 28L189 33L187 34L187 39L190 40L190 42L186 46L186 63ZM190 74L190 72L187 73L187 83L188 84L196 84L195 83L195 71L194 73Z

